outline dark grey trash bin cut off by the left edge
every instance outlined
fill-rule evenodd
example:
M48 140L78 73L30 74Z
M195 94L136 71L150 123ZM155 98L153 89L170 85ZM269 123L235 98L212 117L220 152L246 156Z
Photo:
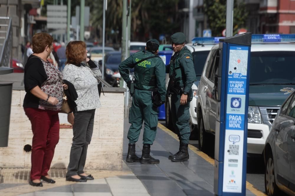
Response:
M0 75L12 72L12 68L0 67ZM0 82L0 147L8 146L12 84Z

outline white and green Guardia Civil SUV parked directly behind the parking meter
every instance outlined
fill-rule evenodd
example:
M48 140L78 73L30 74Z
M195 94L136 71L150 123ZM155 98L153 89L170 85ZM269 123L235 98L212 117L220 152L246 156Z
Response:
M287 35L288 36L288 35ZM252 35L250 58L250 87L248 107L247 152L262 155L266 138L278 109L295 88L295 43L263 42L263 35ZM295 42L295 35L293 36ZM290 42L292 39L288 39ZM199 149L212 143L207 134L215 135L216 105L214 70L219 60L219 46L213 46L201 74L197 92Z

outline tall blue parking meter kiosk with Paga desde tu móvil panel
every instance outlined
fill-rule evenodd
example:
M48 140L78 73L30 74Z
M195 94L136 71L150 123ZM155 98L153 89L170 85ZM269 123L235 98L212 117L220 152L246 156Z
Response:
M245 195L251 33L219 41L214 78L214 192Z

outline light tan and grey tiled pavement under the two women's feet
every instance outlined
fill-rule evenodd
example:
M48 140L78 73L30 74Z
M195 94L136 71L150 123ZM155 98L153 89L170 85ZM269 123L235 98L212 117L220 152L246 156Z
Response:
M24 196L135 196L150 195L142 182L134 175L123 162L122 171L86 171L96 179L87 182L69 182L63 177L64 171L53 170L53 173L60 173L60 177L53 178L56 183L43 183L43 187L32 187L27 183L27 170L3 169L0 171L0 195L24 195ZM21 176L17 176L18 174ZM7 182L7 183L5 183ZM13 183L13 184L12 184Z

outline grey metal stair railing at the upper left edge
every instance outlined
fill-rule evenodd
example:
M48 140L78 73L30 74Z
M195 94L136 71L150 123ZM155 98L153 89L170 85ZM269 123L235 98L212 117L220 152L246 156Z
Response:
M11 18L0 17L0 67L12 67Z

